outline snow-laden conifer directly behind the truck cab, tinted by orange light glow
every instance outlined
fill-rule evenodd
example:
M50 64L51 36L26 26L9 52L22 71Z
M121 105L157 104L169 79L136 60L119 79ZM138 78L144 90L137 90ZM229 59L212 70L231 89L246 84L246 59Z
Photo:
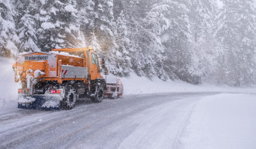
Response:
M106 66L109 73L117 74L119 69L118 62L114 53L118 49L116 44L116 22L114 22L113 1L112 0L95 0L92 37L90 45L99 45L96 52L100 52L106 57Z

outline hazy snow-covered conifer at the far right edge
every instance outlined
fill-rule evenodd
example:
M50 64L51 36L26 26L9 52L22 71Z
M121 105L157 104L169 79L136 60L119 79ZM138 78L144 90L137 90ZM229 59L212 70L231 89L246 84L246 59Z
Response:
M241 86L256 81L255 14L253 0L223 2L216 36L227 49L223 57L227 84Z

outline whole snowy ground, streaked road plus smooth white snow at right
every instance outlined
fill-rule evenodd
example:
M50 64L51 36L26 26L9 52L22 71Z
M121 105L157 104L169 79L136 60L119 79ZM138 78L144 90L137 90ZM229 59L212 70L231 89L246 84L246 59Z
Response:
M9 107L0 110L0 148L253 149L255 100L254 94L161 93L78 103L73 110Z

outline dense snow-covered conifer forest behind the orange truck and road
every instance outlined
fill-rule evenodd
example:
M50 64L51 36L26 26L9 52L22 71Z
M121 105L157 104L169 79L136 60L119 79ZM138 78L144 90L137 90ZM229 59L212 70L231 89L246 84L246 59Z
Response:
M254 0L0 0L0 56L92 46L109 73L256 84Z

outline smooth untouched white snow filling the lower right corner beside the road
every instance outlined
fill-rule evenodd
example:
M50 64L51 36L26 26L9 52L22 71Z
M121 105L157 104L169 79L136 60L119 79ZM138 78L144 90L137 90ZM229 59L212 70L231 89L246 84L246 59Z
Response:
M255 113L255 94L203 97L179 136L178 148L256 148Z

